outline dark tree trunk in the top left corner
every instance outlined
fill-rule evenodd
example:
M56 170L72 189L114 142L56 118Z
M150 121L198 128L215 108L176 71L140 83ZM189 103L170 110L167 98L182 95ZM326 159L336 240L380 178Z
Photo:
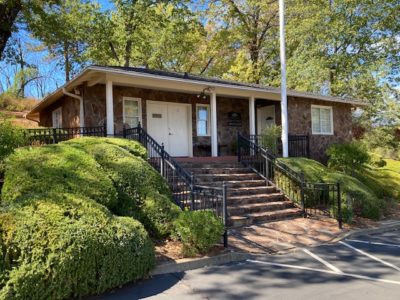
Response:
M0 2L0 60L8 39L11 37L15 20L22 9L20 0L5 0Z

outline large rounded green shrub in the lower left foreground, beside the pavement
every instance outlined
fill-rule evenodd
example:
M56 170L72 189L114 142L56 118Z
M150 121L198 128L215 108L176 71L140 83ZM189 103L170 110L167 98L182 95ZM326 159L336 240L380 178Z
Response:
M0 223L6 231L1 299L101 293L143 278L155 263L152 242L139 222L113 217L90 199L40 199L10 211L8 220Z

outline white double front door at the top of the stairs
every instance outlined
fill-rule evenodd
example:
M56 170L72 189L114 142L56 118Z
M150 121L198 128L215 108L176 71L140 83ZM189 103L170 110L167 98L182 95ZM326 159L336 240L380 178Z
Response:
M187 104L147 101L147 130L171 156L191 154L189 116Z

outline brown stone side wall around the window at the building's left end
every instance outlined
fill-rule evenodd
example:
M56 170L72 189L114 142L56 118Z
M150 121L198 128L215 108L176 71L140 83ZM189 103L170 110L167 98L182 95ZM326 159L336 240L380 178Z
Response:
M79 100L68 96L63 96L40 112L39 126L52 127L52 113L59 107L62 107L62 127L79 127Z

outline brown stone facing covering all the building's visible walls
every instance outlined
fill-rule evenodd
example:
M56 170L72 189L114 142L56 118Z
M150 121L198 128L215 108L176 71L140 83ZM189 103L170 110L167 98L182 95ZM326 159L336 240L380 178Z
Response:
M83 86L81 92L84 97L85 126L101 126L106 120L105 86ZM158 91L136 87L114 86L114 124L115 132L121 133L123 128L122 98L137 97L142 99L142 125L147 127L146 100L187 103L192 106L192 134L193 155L210 156L211 138L198 137L196 133L196 104L209 104L210 99L197 98L196 94ZM334 135L313 135L311 132L311 105L325 105L333 107ZM257 100L257 107L275 105L276 123L281 123L280 103L276 101ZM52 126L52 111L63 107L63 127L79 126L79 100L64 96L61 100L50 105L40 113L40 126ZM229 112L240 113L240 124L230 124ZM311 157L325 161L325 150L329 145L349 141L351 133L351 105L333 103L307 98L288 97L289 133L309 134ZM220 155L236 154L236 136L238 131L249 133L249 108L248 99L217 97L217 125L218 145ZM237 126L241 125L241 126Z

